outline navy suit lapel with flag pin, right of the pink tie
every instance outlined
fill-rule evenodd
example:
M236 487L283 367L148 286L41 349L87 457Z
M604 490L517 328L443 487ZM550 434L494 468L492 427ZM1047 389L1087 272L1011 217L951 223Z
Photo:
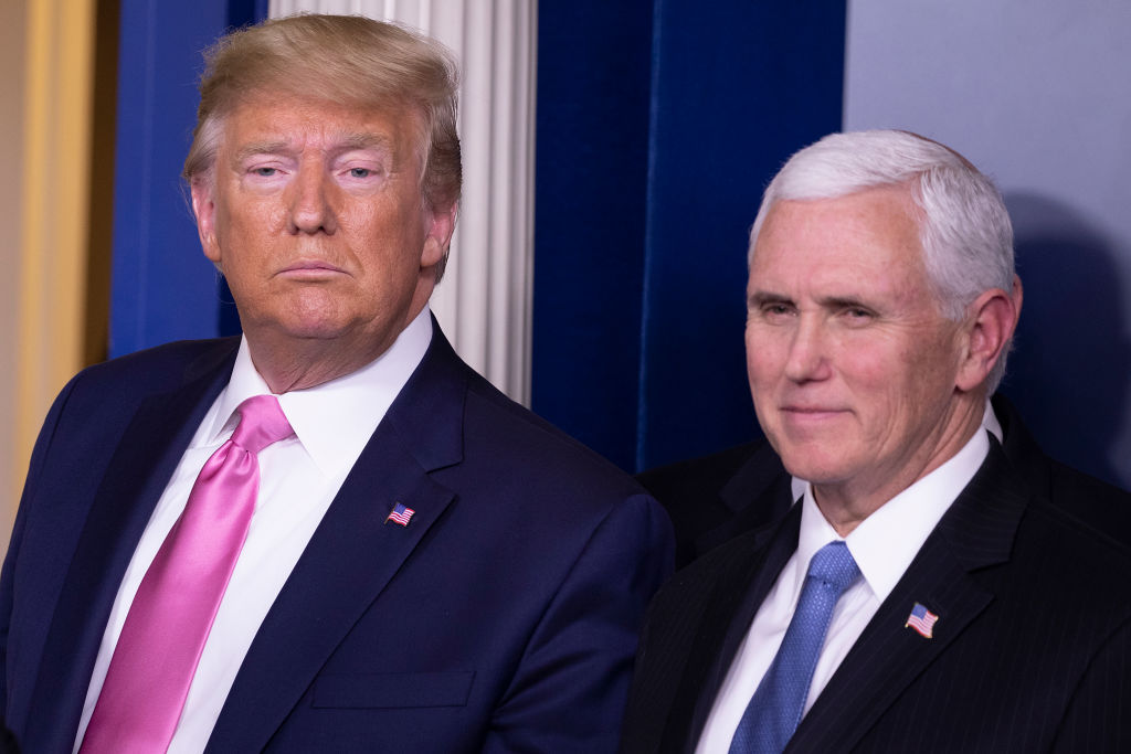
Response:
M259 627L206 751L268 745L338 643L455 497L429 473L463 458L466 369L433 322L424 361L354 463ZM407 526L385 522L396 503L415 511Z

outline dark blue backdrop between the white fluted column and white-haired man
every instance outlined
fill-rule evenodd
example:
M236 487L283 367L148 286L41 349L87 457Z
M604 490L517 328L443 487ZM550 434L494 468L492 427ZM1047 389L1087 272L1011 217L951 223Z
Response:
M746 233L844 41L844 0L539 3L534 410L627 469L757 435Z

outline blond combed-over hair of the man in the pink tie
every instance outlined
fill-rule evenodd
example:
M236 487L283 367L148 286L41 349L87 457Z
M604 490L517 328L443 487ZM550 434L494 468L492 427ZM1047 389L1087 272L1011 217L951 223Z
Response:
M250 97L295 96L420 116L421 192L450 209L461 184L458 73L439 42L363 16L297 15L232 32L205 53L184 177L208 181L224 118Z

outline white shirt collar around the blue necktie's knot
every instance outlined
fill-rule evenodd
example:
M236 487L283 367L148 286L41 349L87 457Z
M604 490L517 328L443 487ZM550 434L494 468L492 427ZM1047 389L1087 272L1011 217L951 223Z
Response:
M802 564L797 590L813 554L828 543L843 539L869 588L882 603L988 452L990 436L981 430L975 432L955 456L881 505L847 537L840 537L824 519L813 499L812 485L805 483L797 539Z

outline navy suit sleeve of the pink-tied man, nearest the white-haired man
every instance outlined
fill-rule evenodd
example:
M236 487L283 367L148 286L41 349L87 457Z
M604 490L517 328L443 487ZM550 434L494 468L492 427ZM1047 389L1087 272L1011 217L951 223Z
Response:
M644 613L673 557L651 497L614 506L530 636L484 752L616 751Z

